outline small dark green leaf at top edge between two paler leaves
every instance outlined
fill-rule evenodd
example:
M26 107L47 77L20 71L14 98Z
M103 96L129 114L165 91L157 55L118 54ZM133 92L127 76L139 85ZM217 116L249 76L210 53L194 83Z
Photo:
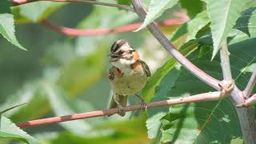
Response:
M179 2L182 8L186 9L186 13L190 18L194 18L204 8L204 2L200 0L194 0L193 2L190 0L180 0Z

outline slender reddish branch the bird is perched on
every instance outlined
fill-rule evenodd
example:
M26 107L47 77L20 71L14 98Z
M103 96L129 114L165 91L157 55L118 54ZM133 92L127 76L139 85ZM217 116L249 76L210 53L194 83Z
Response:
M226 94L228 94L229 92L230 90L225 90L225 93L220 91L215 91L215 92L209 92L209 93L195 94L195 95L191 95L184 98L174 98L174 99L165 100L165 101L150 102L150 103L146 103L146 106L147 108L153 108L158 106L176 105L176 104L189 103L189 102L214 101L214 100L218 100L225 97ZM124 109L126 111L141 110L142 106L141 105L126 106ZM73 121L73 120L82 119L82 118L94 118L94 117L100 117L103 115L111 115L111 114L117 114L117 113L118 113L118 108L108 109L108 110L97 110L97 111L91 111L91 112L80 113L80 114L37 119L37 120L28 121L28 122L18 122L16 125L20 128L26 128L30 126L39 126L39 125L45 125L50 123L56 123L56 122Z

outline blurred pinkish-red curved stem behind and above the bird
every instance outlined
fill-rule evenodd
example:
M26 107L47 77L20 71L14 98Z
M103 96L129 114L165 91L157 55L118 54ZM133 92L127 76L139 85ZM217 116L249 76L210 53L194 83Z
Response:
M182 24L189 20L189 18L184 13L176 13L174 15L177 15L180 18L167 19L163 22L156 22L156 25L157 26L174 26L174 25ZM114 29L102 28L102 29L88 29L88 30L78 30L78 29L73 29L65 26L55 26L54 24L46 20L42 21L42 25L60 34L66 34L71 36L81 36L81 35L93 36L93 35L117 34L117 33L130 32L133 30L137 30L142 25L142 23L134 23L126 26L118 26Z

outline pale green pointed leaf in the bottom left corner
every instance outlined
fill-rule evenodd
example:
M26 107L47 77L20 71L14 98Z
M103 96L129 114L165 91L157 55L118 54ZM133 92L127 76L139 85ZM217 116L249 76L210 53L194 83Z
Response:
M26 134L25 131L21 130L13 122L10 122L10 119L1 116L0 122L0 137L17 138L27 143L37 142L35 138L31 137L29 134Z

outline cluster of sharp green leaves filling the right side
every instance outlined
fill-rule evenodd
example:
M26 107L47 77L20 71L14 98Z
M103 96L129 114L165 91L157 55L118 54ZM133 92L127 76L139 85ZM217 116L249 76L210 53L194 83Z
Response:
M141 28L153 22L164 10L178 1L151 1L149 12ZM170 36L174 42L183 38L179 48L196 66L214 78L222 79L218 50L223 40L229 40L230 64L233 77L239 88L244 89L254 66L255 3L250 1L198 1L201 11L191 10L189 1L181 1L181 6L190 14L186 22ZM194 2L193 2L194 3ZM211 59L210 59L211 57ZM215 57L215 58L214 58ZM249 70L250 71L246 71ZM211 91L185 69L177 66L170 58L142 90L147 102L168 98L186 97ZM159 138L162 142L178 143L230 143L242 142L238 118L234 106L225 98L218 102L198 102L181 106L148 110L149 138ZM223 133L220 133L222 131Z

